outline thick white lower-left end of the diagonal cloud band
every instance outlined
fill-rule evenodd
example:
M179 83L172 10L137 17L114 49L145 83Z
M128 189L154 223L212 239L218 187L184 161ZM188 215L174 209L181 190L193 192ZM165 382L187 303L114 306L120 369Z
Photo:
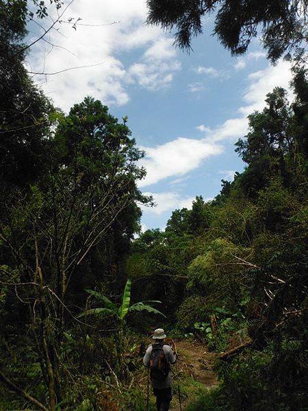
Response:
M141 164L146 168L140 187L149 186L161 179L185 175L196 169L205 158L222 153L222 147L205 140L179 137L156 147L141 147L146 157Z

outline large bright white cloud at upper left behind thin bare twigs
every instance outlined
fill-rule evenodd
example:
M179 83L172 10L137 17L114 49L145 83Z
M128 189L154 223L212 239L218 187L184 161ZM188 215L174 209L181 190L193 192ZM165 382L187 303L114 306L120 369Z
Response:
M52 7L51 14L56 14ZM86 95L101 99L107 105L123 105L129 101L129 84L150 90L165 87L180 69L177 51L159 27L144 23L146 14L145 1L92 0L89 5L83 0L75 0L63 20L81 17L79 23L82 24L117 23L77 25L76 31L62 23L59 31L51 30L46 36L46 40L55 45L53 49L43 41L31 47L28 66L31 71L55 73L71 67L102 64L53 76L36 75L34 79L38 83L47 79L42 84L44 92L64 110ZM40 23L48 27L47 20ZM36 29L36 34L31 33L29 40L40 36L40 28ZM125 66L120 56L132 49L136 51L136 59L130 66Z

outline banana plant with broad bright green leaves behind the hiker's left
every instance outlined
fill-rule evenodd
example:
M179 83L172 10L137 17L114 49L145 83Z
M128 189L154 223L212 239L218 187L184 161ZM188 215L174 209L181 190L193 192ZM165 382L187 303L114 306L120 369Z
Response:
M151 306L151 303L162 303L162 301L139 301L138 303L131 304L131 279L127 279L127 283L125 285L125 290L123 292L123 297L122 297L122 303L120 307L116 306L115 303L110 301L105 295L102 295L100 292L94 291L94 290L86 290L90 295L93 295L96 299L99 299L99 301L103 302L104 307L99 307L99 308L92 308L90 310L86 310L79 314L79 317L81 316L88 316L88 315L97 315L97 316L116 316L116 318L120 321L123 322L125 321L125 317L129 312L133 311L146 311L146 312L151 312L152 314L159 314L162 316L165 316L162 312L159 310L156 310L156 308L153 308Z

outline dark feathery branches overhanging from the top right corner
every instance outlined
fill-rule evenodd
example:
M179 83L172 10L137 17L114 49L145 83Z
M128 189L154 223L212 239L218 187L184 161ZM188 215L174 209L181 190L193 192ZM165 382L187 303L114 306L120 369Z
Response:
M148 0L148 23L175 29L175 44L191 49L203 32L203 17L216 13L214 34L232 54L245 53L261 32L268 58L302 55L307 39L307 3L298 0Z

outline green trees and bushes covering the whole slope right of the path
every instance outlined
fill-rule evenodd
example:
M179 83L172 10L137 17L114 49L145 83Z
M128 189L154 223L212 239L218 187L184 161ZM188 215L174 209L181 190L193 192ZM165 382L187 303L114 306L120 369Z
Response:
M249 116L236 145L244 172L213 201L175 210L166 232L140 236L131 257L143 260L146 292L168 294L175 329L235 349L220 389L191 410L305 410L308 82L294 73L294 103L276 88Z

